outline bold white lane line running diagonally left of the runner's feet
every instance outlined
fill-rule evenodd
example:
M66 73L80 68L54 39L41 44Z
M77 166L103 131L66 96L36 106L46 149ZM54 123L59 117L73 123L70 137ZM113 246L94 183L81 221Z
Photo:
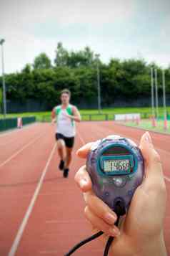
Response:
M39 195L39 191L40 191L41 186L43 184L44 178L46 176L46 172L48 171L49 164L51 162L51 159L52 159L52 157L54 155L55 150L56 150L56 143L55 143L54 147L52 148L51 153L49 155L49 158L48 158L48 160L46 162L46 166L45 166L44 170L42 171L41 178L39 179L39 183L36 186L36 190L34 192L34 195L32 196L31 202L30 202L29 207L28 207L28 209L26 211L24 219L22 220L21 225L20 225L20 227L18 229L18 232L16 234L15 240L14 240L12 246L11 246L11 250L10 250L8 256L14 256L16 254L16 250L19 247L19 242L21 241L21 237L22 237L22 235L24 233L24 229L26 228L26 224L29 221L29 217L30 217L31 212L32 212L32 210L34 208L34 204L36 202L37 196Z

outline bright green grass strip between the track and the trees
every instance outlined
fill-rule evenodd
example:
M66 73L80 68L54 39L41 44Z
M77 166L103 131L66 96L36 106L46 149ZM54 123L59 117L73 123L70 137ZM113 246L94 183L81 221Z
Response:
M170 113L170 106L167 108L167 111ZM83 120L89 120L88 115L92 115L91 120L105 120L105 115L98 115L98 110L95 109L84 109L80 110L81 115L83 116ZM151 108L104 108L101 110L102 114L108 114L108 119L113 120L113 116L115 114L126 114L126 113L141 113L141 118L149 118L149 115L151 115ZM159 108L159 115L162 116L164 113L163 108ZM51 113L50 112L33 112L33 113L14 113L14 114L8 114L8 118L12 117L24 117L24 116L30 116L35 115L36 119L38 121L41 121L43 117L46 117L46 120L49 120ZM3 115L0 114L0 118L3 118Z

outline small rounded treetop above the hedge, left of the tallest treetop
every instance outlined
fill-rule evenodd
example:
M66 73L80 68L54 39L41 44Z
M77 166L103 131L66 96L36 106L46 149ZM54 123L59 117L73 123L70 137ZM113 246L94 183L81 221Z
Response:
M49 69L51 67L51 60L45 52L42 52L35 58L33 67L35 70Z

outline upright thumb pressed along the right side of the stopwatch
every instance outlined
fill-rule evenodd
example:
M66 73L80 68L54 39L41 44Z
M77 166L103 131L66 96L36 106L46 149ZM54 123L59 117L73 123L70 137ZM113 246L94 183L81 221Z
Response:
M164 175L161 166L161 159L159 154L154 149L154 145L151 140L149 132L144 133L141 137L141 142L139 148L144 157L145 166L145 179L143 182L144 188L156 189L160 186L164 186Z

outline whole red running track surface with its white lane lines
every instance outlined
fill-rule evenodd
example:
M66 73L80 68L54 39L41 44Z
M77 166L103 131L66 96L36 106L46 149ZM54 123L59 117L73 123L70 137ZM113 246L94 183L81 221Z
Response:
M63 256L76 242L91 235L84 219L84 200L74 174L84 161L76 150L88 141L117 133L139 142L144 131L113 122L80 123L69 179L57 166L54 128L31 125L0 136L0 256ZM151 133L159 151L166 179L168 202L164 233L170 255L170 136ZM102 255L99 241L82 247L74 255Z

